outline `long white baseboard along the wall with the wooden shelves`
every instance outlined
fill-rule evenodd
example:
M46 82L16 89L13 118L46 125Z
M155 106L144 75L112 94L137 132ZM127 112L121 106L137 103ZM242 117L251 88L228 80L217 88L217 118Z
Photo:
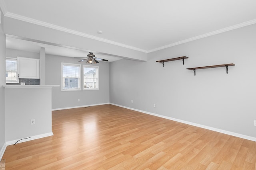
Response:
M192 123L192 122L189 122L189 121L184 121L184 120L181 120L181 119L176 119L176 118L172 118L172 117L168 117L168 116L164 116L164 115L158 115L156 113L151 113L151 112L148 112L148 111L134 109L134 108L131 108L131 107L126 107L126 106L121 106L121 105L118 105L118 104L113 104L113 103L110 103L110 104L115 105L115 106L119 106L119 107L123 107L123 108L126 108L126 109L130 109L130 110L134 110L134 111L139 111L139 112L146 113L146 114L149 114L149 115L154 115L154 116L157 116L157 117L162 117L164 119L169 119L169 120L177 121L177 122L180 122L180 123L185 123L185 124L188 124L188 125L192 125L192 126L196 126L196 127L201 127L201 128L208 129L208 130L211 130L211 131L216 131L216 132L220 132L220 133L224 133L224 134L227 134L227 135L231 135L231 136L235 136L235 137L240 137L242 139L248 139L250 141L255 141L256 142L256 138L255 137L251 137L251 136L247 136L247 135L242 135L242 134L234 133L234 132L230 132L230 131L225 131L225 130L214 128L214 127L210 127L210 126L200 125L200 124L197 124L197 123Z

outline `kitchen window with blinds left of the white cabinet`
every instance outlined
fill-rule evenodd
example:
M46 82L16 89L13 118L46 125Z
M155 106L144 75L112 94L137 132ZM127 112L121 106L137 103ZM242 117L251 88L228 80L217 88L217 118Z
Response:
M19 83L17 59L6 58L6 83Z

